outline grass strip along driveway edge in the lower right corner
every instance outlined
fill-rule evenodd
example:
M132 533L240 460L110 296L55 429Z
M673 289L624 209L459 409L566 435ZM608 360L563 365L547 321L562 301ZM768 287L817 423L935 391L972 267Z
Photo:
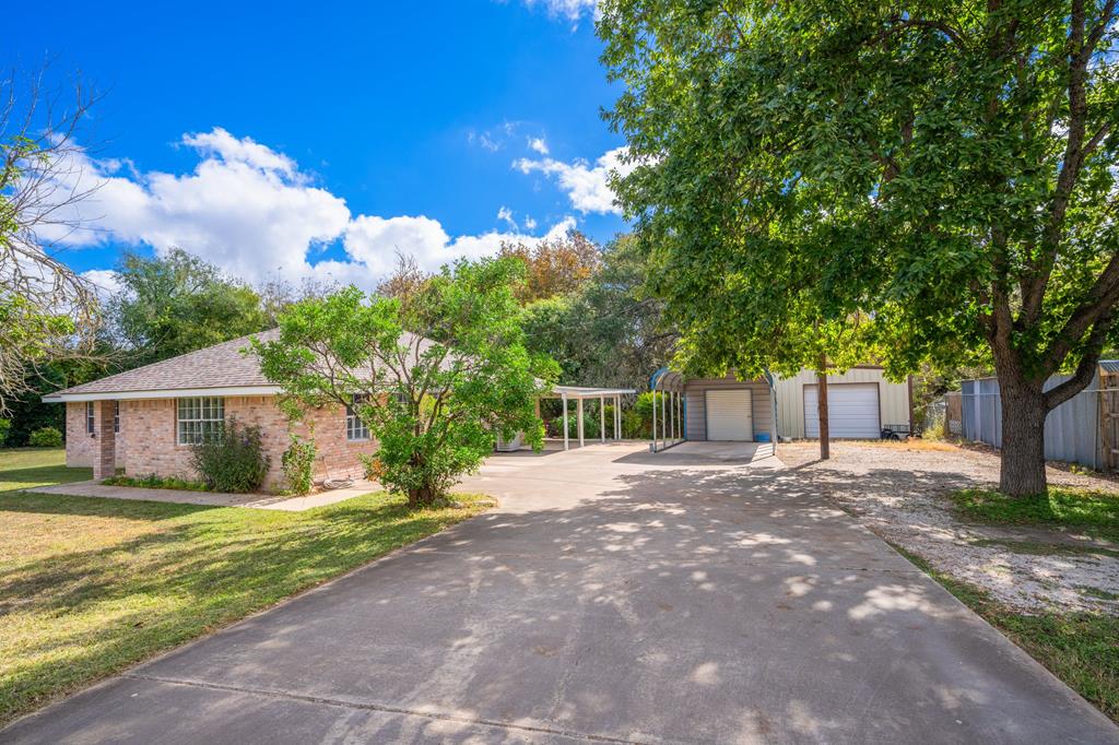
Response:
M1119 617L1103 613L1017 613L982 590L938 572L920 556L896 545L894 548L1119 723Z

